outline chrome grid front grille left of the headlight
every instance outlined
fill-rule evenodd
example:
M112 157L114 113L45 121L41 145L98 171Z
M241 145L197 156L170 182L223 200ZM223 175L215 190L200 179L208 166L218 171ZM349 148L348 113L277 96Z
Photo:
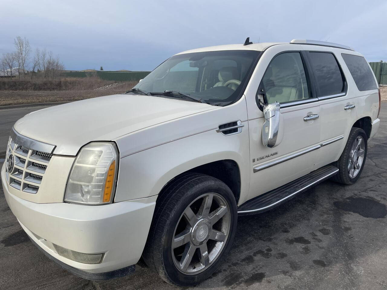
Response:
M17 135L17 140L20 143L24 142L23 136L21 135ZM36 194L39 191L39 186L43 180L52 154L51 152L35 150L34 146L38 146L39 142L33 143L31 139L28 139L28 142L33 146L15 143L12 135L9 138L6 160L12 155L14 158L14 166L10 172L6 172L6 177L9 185L13 188L26 193Z

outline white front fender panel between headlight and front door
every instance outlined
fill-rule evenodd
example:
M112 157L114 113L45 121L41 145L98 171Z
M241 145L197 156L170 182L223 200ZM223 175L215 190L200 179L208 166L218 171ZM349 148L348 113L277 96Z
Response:
M121 158L114 201L157 195L175 176L224 159L234 160L240 168L242 200L250 184L248 122L243 125L242 132L235 135L209 130Z

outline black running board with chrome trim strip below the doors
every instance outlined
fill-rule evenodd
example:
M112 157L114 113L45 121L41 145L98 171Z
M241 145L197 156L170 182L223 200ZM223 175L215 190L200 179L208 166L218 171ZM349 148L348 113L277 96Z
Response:
M309 174L289 182L279 188L261 194L251 200L246 201L238 207L238 215L252 215L255 213L265 212L288 201L312 186L334 176L339 169L332 165L327 165L320 169L310 172Z

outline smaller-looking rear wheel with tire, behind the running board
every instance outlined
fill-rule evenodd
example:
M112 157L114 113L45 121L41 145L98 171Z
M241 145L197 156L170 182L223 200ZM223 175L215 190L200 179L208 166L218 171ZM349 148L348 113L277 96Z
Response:
M367 157L367 135L361 128L352 127L347 144L334 165L339 172L331 179L342 184L354 184L363 171Z

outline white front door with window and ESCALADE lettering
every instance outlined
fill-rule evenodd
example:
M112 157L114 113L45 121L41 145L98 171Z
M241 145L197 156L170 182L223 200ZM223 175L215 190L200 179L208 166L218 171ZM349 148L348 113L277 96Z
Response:
M320 147L320 106L310 89L303 54L300 51L278 53L269 48L262 58L270 62L255 93L259 87L267 103L281 104L279 144L273 148L263 145L265 118L257 110L257 104L251 102L255 95L249 90L246 97L250 100L247 107L251 176L247 200L308 174L317 162L316 149ZM262 58L260 66L265 61Z

